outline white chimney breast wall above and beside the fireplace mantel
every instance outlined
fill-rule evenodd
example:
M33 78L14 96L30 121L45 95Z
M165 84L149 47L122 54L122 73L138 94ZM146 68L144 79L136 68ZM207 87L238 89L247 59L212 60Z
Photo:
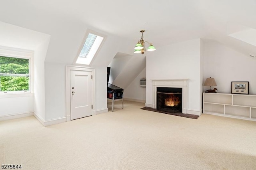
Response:
M189 79L188 113L200 115L200 39L166 45L146 59L146 104L152 105L152 79Z

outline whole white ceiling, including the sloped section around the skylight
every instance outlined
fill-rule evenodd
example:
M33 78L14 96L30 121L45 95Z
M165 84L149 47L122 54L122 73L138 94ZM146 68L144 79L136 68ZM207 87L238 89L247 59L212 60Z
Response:
M0 21L51 36L49 62L72 63L87 28L108 36L95 67L107 67L118 52L133 55L142 29L156 49L202 38L256 55L254 45L228 36L238 26L256 29L255 0L5 0L0 6Z

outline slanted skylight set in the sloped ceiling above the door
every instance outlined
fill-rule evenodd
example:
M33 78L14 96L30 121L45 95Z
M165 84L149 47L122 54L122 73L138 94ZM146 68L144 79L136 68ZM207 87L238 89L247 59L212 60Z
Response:
M77 57L76 64L89 65L104 40L104 36L99 36L97 33L92 33L90 31L86 34L86 40L83 42L83 46L80 47L80 53Z

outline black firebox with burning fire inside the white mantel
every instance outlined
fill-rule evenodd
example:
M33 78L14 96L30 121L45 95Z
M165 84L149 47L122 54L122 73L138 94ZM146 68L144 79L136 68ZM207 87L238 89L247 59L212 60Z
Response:
M182 88L157 87L157 110L182 113Z

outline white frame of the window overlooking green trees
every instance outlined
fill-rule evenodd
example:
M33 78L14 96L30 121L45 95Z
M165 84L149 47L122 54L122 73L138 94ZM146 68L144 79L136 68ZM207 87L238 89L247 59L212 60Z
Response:
M28 91L0 91L0 98L34 95L34 51L27 49L18 49L14 47L0 46L0 56L29 59L30 77Z

